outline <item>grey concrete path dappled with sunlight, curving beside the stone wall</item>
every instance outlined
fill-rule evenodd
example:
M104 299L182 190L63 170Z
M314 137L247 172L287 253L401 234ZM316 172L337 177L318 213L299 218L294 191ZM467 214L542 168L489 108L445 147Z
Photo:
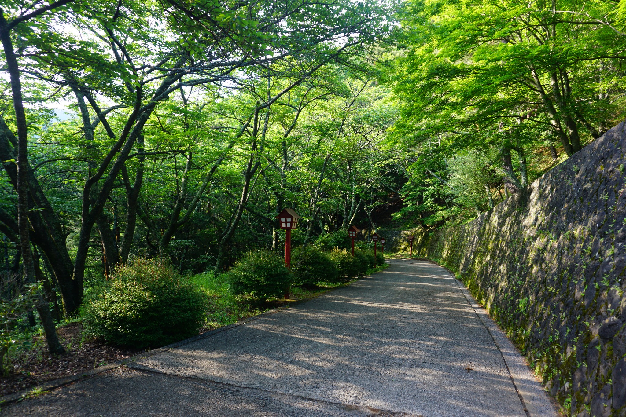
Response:
M394 260L311 301L8 406L7 415L555 416L447 271Z

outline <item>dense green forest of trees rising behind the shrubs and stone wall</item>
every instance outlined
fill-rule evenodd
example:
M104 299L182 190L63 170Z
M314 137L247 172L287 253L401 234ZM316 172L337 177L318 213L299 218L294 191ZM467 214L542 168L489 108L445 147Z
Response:
M66 314L129 259L281 253L283 208L295 246L468 221L625 112L618 1L0 8L3 276Z

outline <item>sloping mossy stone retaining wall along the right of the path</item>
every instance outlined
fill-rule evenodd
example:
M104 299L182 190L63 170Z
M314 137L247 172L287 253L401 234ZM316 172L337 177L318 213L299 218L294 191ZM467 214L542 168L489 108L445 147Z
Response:
M381 233L457 273L579 417L626 417L625 149L621 123L474 221Z

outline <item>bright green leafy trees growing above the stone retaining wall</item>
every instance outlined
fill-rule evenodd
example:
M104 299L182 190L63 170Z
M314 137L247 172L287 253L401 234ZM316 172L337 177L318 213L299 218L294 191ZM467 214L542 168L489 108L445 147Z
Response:
M394 217L473 218L622 121L624 4L406 2L384 76L400 114L387 146L406 150L409 179Z

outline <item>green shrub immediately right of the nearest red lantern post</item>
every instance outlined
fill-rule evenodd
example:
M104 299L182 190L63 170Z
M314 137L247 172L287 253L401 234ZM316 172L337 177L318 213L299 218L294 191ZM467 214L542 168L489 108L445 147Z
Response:
M331 257L316 246L294 249L292 254L294 282L299 285L312 285L320 281L337 281L337 265Z

